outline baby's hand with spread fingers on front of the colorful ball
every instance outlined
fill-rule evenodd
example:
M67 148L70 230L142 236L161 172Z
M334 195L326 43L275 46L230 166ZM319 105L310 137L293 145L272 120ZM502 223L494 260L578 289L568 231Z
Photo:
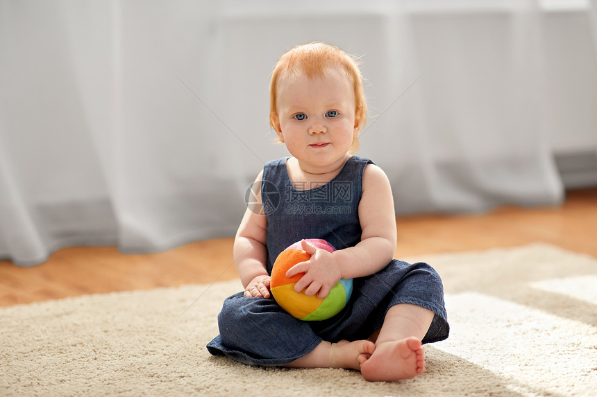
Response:
M305 240L301 241L301 245L305 252L310 254L311 258L291 267L286 272L286 276L290 278L296 274L305 273L294 285L294 290L296 292L305 290L306 295L317 294L319 299L323 299L328 296L333 286L342 279L342 270L331 252L318 249Z

